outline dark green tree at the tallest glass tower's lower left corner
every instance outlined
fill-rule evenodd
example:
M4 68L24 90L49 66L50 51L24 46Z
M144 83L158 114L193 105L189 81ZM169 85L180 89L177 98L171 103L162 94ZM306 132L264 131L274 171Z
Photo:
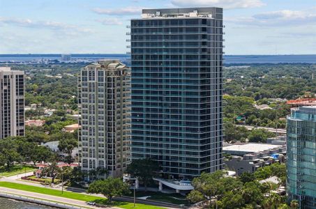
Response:
M159 169L159 164L156 161L150 159L137 159L133 160L133 162L128 165L126 172L130 173L130 175L135 178L140 178L146 191L147 185L151 182L153 176L156 176Z

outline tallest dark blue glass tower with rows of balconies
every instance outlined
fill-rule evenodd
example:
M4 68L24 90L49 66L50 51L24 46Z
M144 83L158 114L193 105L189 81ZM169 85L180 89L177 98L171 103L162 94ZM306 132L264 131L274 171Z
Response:
M223 9L144 9L130 28L133 159L165 178L222 169Z

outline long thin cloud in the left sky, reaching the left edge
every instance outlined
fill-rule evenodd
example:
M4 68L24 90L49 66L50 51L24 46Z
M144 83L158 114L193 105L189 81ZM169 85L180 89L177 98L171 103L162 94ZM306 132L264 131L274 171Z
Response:
M51 21L33 21L29 19L16 19L10 17L0 17L1 25L13 25L27 28L36 29L50 29L53 31L64 31L69 33L91 33L91 29L86 29L81 26L76 26L72 24L64 24L61 22L51 22Z

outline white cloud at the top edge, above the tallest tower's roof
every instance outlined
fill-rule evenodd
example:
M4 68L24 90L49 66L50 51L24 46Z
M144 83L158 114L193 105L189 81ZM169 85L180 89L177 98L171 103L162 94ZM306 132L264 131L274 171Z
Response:
M218 6L226 9L264 6L262 0L172 0L174 6Z

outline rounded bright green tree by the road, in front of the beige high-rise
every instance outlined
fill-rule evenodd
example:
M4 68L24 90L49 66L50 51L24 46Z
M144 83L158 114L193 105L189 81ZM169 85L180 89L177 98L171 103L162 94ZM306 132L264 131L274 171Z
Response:
M129 185L123 183L121 178L109 177L105 180L96 180L89 185L88 193L103 194L109 202L112 202L114 196L121 196L130 192Z

